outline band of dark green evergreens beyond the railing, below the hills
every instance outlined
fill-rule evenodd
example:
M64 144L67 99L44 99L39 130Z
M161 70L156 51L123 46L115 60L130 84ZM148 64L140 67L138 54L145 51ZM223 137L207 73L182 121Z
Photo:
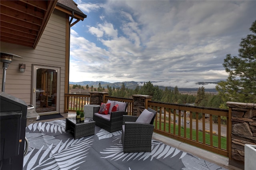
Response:
M73 85L72 88L81 88L83 86ZM88 84L86 89L89 89ZM90 91L98 92L108 92L109 96L121 97L121 98L132 98L134 94L142 94L152 96L152 101L156 102L166 102L166 103L175 103L175 104L194 104L196 106L205 106L212 108L219 108L222 104L221 97L218 94L206 93L204 87L198 88L198 92L195 95L192 94L182 94L178 90L178 86L175 86L174 90L170 88L165 88L165 90L160 89L158 86L154 86L152 82L144 82L143 86L137 86L135 89L130 89L125 87L122 83L121 87L111 87L107 86L105 89L98 84L98 88L93 86L90 87Z

